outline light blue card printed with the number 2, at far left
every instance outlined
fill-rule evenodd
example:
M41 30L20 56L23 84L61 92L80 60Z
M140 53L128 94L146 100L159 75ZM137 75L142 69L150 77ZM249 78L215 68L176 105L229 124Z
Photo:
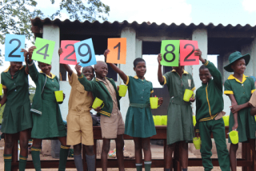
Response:
M6 61L24 62L24 53L21 50L25 48L25 39L25 35L6 34Z

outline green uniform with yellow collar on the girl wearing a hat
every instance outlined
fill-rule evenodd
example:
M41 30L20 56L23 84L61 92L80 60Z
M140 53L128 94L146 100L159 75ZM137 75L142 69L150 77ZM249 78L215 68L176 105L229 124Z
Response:
M234 94L235 100L238 105L242 105L250 101L251 93L254 93L255 86L252 78L248 78L243 75L242 82L237 78L234 78L234 75L231 74L227 78L225 84L225 94ZM234 115L230 112L230 127L229 131L232 131L234 126ZM244 108L238 111L238 137L239 142L247 141L248 139L255 139L255 118L250 115L250 107ZM229 142L230 137L229 137Z

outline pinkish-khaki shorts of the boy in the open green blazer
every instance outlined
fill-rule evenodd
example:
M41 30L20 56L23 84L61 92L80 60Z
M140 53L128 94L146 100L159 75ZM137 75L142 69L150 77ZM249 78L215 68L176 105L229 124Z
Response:
M114 139L118 135L125 133L125 124L122 120L122 114L111 113L111 117L101 116L102 138Z

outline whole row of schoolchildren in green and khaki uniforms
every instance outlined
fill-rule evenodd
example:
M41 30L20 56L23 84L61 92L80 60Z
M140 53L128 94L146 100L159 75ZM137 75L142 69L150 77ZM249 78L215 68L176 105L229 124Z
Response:
M107 154L110 150L110 140L116 141L116 153L118 168L124 171L123 163L123 134L126 133L134 139L135 166L137 171L142 171L142 149L144 153L144 166L150 171L151 151L150 137L156 134L153 116L150 109L150 97L153 97L153 85L147 81L146 62L142 58L134 60L135 76L128 76L117 66L110 63L110 67L119 74L123 82L128 86L130 106L126 113L126 123L120 113L120 96L118 87L111 78L106 78L108 66L106 62L97 62L93 67L82 68L79 63L75 66L77 74L74 74L70 66L64 64L68 72L71 85L69 99L69 113L66 118L67 129L62 121L58 102L55 100L54 91L59 90L58 78L50 73L51 65L38 62L40 72L36 69L31 59L35 46L29 51L22 50L26 66L22 62L10 62L10 67L1 74L1 83L4 95L0 105L6 104L2 133L5 133L4 161L5 169L11 169L12 147L15 133L19 133L21 145L19 169L26 168L28 155L28 140L33 138L31 148L34 168L41 170L40 150L42 139L58 137L61 141L59 170L65 170L66 159L70 145L74 145L74 162L78 171L83 170L81 149L86 149L87 167L90 171L95 169L94 138L92 118L90 117L91 105L95 97L103 101L102 107L95 109L101 114L102 129L102 171L107 170ZM105 58L110 50L104 53ZM62 49L58 50L62 54ZM218 161L222 170L236 170L236 151L238 145L230 145L230 155L226 149L225 126L222 116L224 102L222 98L222 75L213 63L202 58L202 52L195 50L203 65L199 69L199 77L202 86L196 91L196 97L190 97L190 101L183 101L185 89L194 90L194 80L191 74L184 70L183 66L173 67L173 70L162 75L162 54L158 54L158 82L167 85L170 93L170 103L167 112L167 145L165 153L165 171L170 171L172 165L172 153L175 145L182 147L182 170L188 166L188 145L193 141L194 126L192 118L191 102L196 101L195 132L202 139L202 165L205 170L213 169L211 163L212 142L210 133L214 135L214 141L218 151ZM250 147L255 155L255 120L256 97L254 82L244 75L246 65L250 61L250 55L242 56L239 52L230 54L230 64L225 66L228 72L234 72L224 84L224 93L230 97L232 103L230 109L230 131L238 130L239 142L250 141ZM82 70L82 72L81 72ZM94 77L94 72L96 77ZM36 84L36 91L32 106L30 107L28 91L28 74ZM213 78L213 79L212 79ZM254 93L252 96L251 94ZM251 97L251 98L250 98ZM158 98L158 105L162 105L162 97ZM251 109L252 108L252 109ZM250 110L251 109L251 110ZM230 142L230 139L229 139Z

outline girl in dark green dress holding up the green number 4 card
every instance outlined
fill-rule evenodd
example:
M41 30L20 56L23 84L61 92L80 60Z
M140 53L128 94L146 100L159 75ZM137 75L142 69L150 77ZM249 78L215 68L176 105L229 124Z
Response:
M41 170L40 150L42 139L58 137L61 141L60 159L58 170L65 170L66 159L70 146L66 145L66 127L62 120L62 115L54 95L54 91L59 90L58 78L50 73L51 65L38 62L38 67L42 70L38 72L33 60L31 59L35 46L29 49L29 69L30 77L36 85L33 104L31 107L33 128L31 137L33 145L31 154L34 163L34 169Z

